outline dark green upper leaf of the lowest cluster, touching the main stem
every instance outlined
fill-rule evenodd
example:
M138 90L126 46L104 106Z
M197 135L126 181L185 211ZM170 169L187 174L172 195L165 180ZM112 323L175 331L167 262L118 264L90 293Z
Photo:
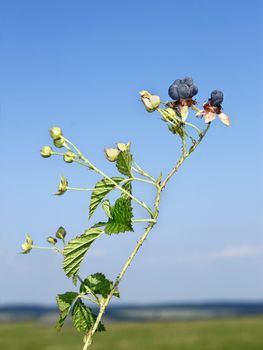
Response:
M80 292L85 294L98 294L107 298L113 288L113 282L108 280L103 273L94 273L88 276L80 286ZM113 293L114 296L120 297L118 290Z

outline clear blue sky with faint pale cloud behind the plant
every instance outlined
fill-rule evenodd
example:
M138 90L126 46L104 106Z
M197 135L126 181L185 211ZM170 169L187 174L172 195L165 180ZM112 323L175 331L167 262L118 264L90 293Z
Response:
M62 174L79 187L98 178L41 158L48 129L61 126L109 174L103 149L127 141L139 164L166 173L178 140L138 92L166 100L173 80L189 75L200 104L224 91L232 126L215 121L167 186L121 300L262 299L262 10L256 0L1 1L0 303L51 304L71 288L59 256L17 254L25 233L44 245L60 225L69 237L91 225L87 193L51 194ZM135 191L153 198L149 188ZM96 242L82 274L114 278L142 229Z

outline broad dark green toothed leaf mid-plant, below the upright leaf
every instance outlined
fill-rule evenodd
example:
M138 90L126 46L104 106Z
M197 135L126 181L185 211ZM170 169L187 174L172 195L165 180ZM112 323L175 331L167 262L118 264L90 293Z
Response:
M112 219L109 219L105 226L105 233L120 233L126 231L133 231L132 228L132 207L131 201L125 198L116 200L114 206L111 208Z

